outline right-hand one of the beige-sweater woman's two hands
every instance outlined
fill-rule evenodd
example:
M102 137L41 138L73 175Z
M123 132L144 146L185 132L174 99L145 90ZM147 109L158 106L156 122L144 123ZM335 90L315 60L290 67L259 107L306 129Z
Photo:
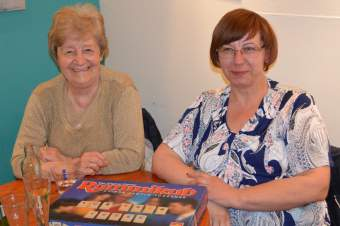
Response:
M96 151L85 152L73 162L78 165L78 172L81 175L95 175L101 168L108 165L105 157Z

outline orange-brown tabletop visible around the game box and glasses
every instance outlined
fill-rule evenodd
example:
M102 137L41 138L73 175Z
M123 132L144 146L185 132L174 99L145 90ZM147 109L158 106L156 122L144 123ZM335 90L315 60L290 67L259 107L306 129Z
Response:
M87 176L86 179L109 179L109 180L124 180L124 181L136 181L136 182L164 182L159 179L157 176L150 172L146 171L135 171L131 173L122 173L115 175L96 175L96 176ZM22 193L24 194L24 184L22 180L15 180L9 182L4 185L0 185L0 197L8 194L8 193ZM51 188L51 202L55 201L58 198L58 192L55 187L55 184L52 184ZM32 215L32 214L31 214ZM34 225L33 219L30 218L30 225ZM199 226L209 226L209 215L208 211L205 211Z

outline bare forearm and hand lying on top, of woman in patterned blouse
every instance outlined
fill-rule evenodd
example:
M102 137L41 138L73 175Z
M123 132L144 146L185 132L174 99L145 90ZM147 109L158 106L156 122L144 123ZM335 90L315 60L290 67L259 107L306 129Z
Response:
M322 201L326 198L330 180L328 166L240 189L203 172L194 172L189 176L192 183L207 187L210 200L225 207L251 211L286 210Z

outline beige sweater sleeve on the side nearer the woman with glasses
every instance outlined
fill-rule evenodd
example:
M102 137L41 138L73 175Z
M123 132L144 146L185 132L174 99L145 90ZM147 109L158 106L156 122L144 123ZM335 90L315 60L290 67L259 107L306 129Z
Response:
M102 152L109 162L101 174L138 170L144 161L141 101L133 86L127 87L112 107L115 148Z

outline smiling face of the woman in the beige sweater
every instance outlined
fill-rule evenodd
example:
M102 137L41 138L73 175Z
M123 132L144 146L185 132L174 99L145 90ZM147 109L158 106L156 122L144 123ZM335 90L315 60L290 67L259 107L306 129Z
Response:
M70 88L97 86L100 75L100 47L93 36L70 36L57 49L57 63Z

